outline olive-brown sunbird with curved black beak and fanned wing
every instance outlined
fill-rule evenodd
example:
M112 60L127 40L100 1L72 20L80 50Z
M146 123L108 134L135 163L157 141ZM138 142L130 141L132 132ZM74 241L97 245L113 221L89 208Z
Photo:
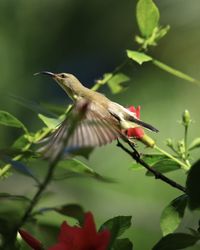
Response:
M66 152L70 152L111 143L113 140L125 138L123 131L136 126L158 132L152 125L138 119L135 113L84 86L73 74L41 71L34 75L41 74L55 80L72 99L72 115L84 109L84 117L81 117L73 131L70 130L72 116L69 115L42 141L45 145L41 152L46 158L55 158L64 148Z

